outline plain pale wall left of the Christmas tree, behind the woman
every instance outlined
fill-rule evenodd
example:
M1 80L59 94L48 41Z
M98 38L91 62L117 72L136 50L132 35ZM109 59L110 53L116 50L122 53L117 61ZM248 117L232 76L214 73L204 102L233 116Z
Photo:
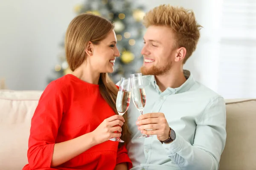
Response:
M12 90L43 90L65 30L82 0L1 0L0 79Z

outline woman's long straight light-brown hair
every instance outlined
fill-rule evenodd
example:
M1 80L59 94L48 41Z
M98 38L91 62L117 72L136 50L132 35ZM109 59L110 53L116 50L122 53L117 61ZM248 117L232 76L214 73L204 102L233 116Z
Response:
M86 59L85 47L89 41L93 44L99 44L113 28L114 25L110 21L93 14L80 14L75 17L68 26L65 37L65 51L70 70L74 71ZM100 74L99 89L102 97L108 102L108 105L118 114L116 110L118 89L107 73ZM126 115L124 115L125 123L122 126L121 139L128 142L131 133L128 129ZM120 142L119 146L121 145L122 143Z

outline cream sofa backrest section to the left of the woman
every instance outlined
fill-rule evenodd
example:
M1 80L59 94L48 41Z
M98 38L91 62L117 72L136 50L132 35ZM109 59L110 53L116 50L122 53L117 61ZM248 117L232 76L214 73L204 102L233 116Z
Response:
M31 118L41 91L0 90L0 167L21 170L27 164Z

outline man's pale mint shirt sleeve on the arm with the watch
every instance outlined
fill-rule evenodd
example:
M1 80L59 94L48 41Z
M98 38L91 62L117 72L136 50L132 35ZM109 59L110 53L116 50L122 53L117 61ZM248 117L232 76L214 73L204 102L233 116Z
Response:
M227 136L224 99L212 100L196 124L192 145L176 133L176 139L163 147L181 170L218 170Z

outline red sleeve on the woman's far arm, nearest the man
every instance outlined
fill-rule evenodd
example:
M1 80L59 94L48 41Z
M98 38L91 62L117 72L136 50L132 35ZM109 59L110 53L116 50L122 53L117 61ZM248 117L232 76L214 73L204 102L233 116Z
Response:
M127 153L126 144L118 148L117 156L116 156L116 164L125 163L125 162L127 163L128 170L131 169L132 163Z

